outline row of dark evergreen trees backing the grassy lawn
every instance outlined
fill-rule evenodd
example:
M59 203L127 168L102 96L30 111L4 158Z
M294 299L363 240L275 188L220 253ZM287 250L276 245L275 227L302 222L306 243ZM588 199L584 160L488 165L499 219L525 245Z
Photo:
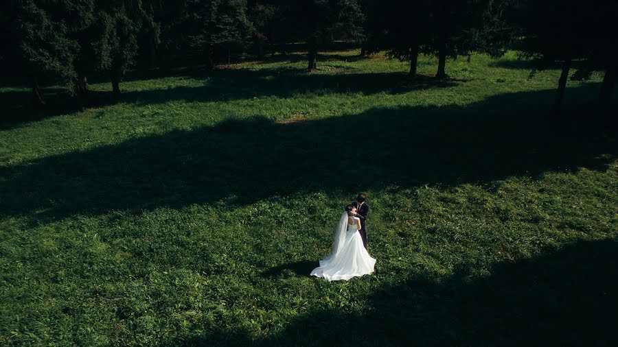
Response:
M179 56L196 56L211 69L240 54L285 56L289 43L304 43L310 70L319 51L345 40L361 55L385 51L409 62L411 77L420 54L436 56L437 78L446 77L447 58L516 49L531 75L562 70L558 109L569 74L604 73L599 95L610 99L617 23L618 3L601 0L7 0L0 67L45 104L41 81L60 81L79 98L89 77L103 77L117 95L132 69Z

